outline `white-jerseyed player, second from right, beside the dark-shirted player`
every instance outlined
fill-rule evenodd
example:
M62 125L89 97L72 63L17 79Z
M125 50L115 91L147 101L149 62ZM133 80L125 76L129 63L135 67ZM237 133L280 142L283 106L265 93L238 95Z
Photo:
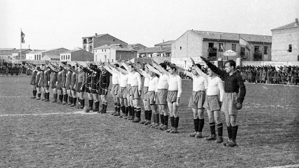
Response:
M196 65L194 60L192 58L190 59L193 65ZM208 68L208 75L207 75L203 73L202 70L200 70L197 66L194 67L197 73L208 81L207 97L204 103L204 108L207 109L208 112L211 136L205 138L205 140L216 139L216 143L222 143L223 124L220 118L220 109L223 102L223 94L224 94L223 82L219 77L217 77L217 75L210 68ZM216 131L215 131L215 122L217 124L217 129L218 129L217 138L216 138Z

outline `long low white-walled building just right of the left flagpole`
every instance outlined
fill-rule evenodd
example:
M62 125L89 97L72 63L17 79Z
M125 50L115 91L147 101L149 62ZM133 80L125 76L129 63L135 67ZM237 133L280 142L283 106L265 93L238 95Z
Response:
M50 50L36 50L26 54L27 60L41 60L45 55L60 55L64 51L69 51L65 48L53 48Z

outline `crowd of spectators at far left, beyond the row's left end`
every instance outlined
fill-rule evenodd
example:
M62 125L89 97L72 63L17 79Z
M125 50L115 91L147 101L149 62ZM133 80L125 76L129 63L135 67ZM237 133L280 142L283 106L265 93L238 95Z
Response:
M0 66L0 74L3 75L19 75L19 74L27 74L30 75L31 72L27 72L26 68L23 68L22 64L12 63L12 62L4 62L3 65Z

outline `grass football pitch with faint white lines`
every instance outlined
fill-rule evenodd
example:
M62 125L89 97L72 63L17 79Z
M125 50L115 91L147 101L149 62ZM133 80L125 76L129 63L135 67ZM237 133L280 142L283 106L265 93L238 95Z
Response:
M110 114L80 113L82 110L65 105L30 99L29 80L0 77L0 167L299 164L298 87L246 84L247 94L237 119L238 145L231 148L188 137L188 133L194 132L193 114L188 108L192 81L183 80L179 133L169 134ZM109 100L113 102L111 96ZM113 109L113 103L109 103L108 109ZM224 114L222 123L226 140ZM206 112L203 131L205 136L210 135Z

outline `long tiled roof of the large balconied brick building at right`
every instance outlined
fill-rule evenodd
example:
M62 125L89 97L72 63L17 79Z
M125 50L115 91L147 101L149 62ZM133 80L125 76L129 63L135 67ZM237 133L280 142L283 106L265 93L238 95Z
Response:
M241 38L248 42L266 42L272 43L272 36L256 35L256 34L239 34L239 33L222 33L213 31L196 31L188 30L189 32L202 37L204 40L231 40L239 41L239 35Z

